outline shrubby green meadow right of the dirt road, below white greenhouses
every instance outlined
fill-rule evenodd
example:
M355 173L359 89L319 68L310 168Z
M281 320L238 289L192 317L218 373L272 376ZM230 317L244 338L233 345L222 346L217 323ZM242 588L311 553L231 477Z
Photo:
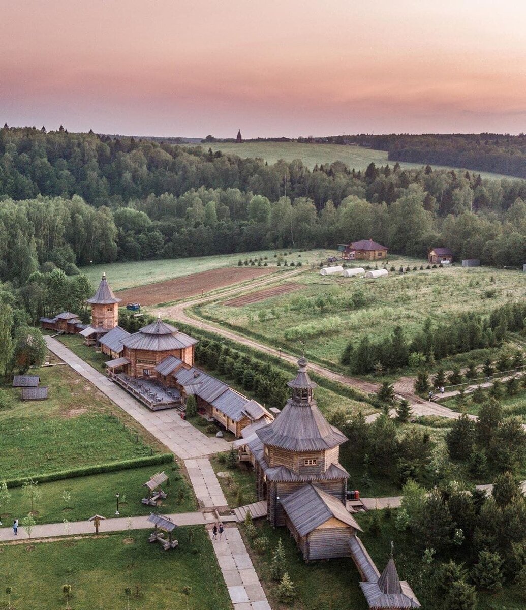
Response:
M390 257L389 268L391 264L397 270L401 265L419 269L427 262ZM303 289L241 307L229 307L218 297L193 311L240 334L292 353L304 350L309 359L338 367L349 340L356 344L365 334L390 334L395 325L413 336L427 317L447 324L450 315L486 314L526 295L520 271L485 267L395 271L380 279L320 276L308 270L294 281Z

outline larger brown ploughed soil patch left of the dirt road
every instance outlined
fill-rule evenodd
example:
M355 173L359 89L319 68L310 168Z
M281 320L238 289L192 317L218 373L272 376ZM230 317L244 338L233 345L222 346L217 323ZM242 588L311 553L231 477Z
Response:
M225 267L203 271L184 276L184 278L168 279L165 282L146 284L129 290L121 290L117 295L126 303L140 303L141 305L157 305L170 303L189 296L197 296L202 292L209 292L231 284L239 284L247 279L274 273L272 267Z

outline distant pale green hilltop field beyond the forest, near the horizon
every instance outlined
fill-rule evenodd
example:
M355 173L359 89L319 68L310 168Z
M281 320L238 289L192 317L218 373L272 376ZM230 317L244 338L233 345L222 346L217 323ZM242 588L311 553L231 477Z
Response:
M192 145L195 146L195 145ZM239 157L260 157L267 163L276 163L279 159L291 162L295 159L301 159L303 165L312 170L314 165L325 165L334 161L342 161L348 167L355 170L365 170L369 163L375 165L386 165L389 163L391 167L396 161L387 161L387 151L379 151L372 148L362 148L361 146L343 146L340 144L306 144L302 142L212 142L204 143L205 150L212 148L212 151L222 151L225 154L236 154ZM406 168L423 167L425 163L408 163L400 161L400 165ZM452 168L442 165L433 165L434 168L444 168L450 170ZM482 178L492 179L516 179L503 174L492 174L489 172L472 171L471 173L480 173Z

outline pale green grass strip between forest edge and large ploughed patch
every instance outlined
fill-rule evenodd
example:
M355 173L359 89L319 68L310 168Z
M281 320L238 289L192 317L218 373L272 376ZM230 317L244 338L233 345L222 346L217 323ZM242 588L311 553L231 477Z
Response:
M264 259L266 256L268 264L274 266L274 255L276 253L284 254L285 251L261 250L257 252L217 254L214 256L198 256L183 259L138 260L126 263L90 265L82 267L81 271L88 276L93 287L99 285L104 272L113 290L125 290L135 286L162 282L167 279L181 278L193 273L201 273L201 271L210 271L222 267L236 267L239 259ZM334 255L334 251L315 249L301 253L303 264L315 264L320 259L330 255ZM287 257L296 259L297 253L294 251L294 256L287 254ZM254 267L250 268L253 269Z

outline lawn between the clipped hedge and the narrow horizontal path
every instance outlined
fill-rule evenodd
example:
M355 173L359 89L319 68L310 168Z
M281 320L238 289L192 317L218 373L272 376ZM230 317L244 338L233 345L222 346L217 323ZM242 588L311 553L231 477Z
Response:
M168 497L162 500L157 508L145 506L141 503L141 498L148 496L148 490L142 485L152 475L162 470L170 477L170 484L162 486ZM37 523L60 523L64 519L83 521L95 514L113 517L117 492L120 493L121 517L149 515L151 511L171 513L190 512L196 509L192 489L178 472L175 463L41 483L39 489L42 496L40 500L35 501L33 507ZM64 492L69 494L69 500L65 499ZM182 493L181 500L179 493ZM6 527L10 526L15 517L20 519L31 511L31 503L22 487L10 489L10 494L9 503L2 507L2 519Z

